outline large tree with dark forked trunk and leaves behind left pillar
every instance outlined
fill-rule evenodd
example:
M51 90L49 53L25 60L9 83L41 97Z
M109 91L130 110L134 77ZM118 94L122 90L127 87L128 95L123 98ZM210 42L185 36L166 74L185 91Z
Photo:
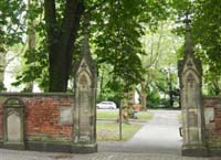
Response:
M91 15L91 44L96 52L97 62L113 65L113 73L123 79L131 79L128 83L135 83L140 77L139 55L143 51L138 39L143 34L143 23L157 25L158 19L167 18L168 12L168 3L158 0L41 0L38 2L43 2L45 18L45 21L41 20L35 25L41 45L34 54L25 54L28 65L32 63L38 65L31 65L20 79L31 79L31 71L35 71L31 76L32 79L38 78L36 76L41 77L44 87L49 82L50 92L65 92L67 88L73 57L78 54L81 42L78 31L82 29L81 19L85 12ZM36 6L33 15L41 13L43 11ZM49 71L45 70L48 67ZM45 73L49 73L49 81Z

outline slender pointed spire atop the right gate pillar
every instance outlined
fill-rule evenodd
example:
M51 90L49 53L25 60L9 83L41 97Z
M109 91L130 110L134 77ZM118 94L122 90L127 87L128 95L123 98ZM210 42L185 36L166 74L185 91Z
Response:
M188 56L188 55L193 56L193 49L192 49L191 36L190 36L191 20L189 18L189 12L186 13L186 19L183 20L183 23L186 24L185 56Z

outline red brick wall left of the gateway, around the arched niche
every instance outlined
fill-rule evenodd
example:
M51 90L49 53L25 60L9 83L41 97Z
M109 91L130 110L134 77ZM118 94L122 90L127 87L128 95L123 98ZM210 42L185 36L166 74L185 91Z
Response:
M11 96L25 105L27 140L71 141L73 125L60 122L61 107L73 107L74 96L69 94L7 94L0 95L0 138L2 137L2 104Z

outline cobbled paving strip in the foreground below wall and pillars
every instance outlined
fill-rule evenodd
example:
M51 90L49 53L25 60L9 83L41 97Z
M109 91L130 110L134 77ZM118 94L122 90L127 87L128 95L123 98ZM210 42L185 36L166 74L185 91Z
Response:
M157 153L97 152L90 154L11 151L0 149L0 160L210 160ZM220 160L220 159L211 159Z

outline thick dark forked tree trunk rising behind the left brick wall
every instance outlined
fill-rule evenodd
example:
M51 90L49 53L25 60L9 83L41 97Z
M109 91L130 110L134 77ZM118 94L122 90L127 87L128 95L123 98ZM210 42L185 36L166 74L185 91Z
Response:
M73 46L83 14L83 3L66 0L64 19L61 26L56 22L54 0L44 0L49 61L50 92L66 92L72 66Z

